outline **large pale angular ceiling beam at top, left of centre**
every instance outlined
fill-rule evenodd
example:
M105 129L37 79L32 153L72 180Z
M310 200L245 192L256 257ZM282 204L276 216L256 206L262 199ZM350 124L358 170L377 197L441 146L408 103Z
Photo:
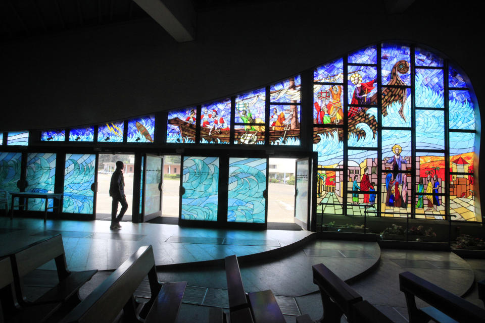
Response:
M196 12L190 0L133 0L178 42L194 40Z

